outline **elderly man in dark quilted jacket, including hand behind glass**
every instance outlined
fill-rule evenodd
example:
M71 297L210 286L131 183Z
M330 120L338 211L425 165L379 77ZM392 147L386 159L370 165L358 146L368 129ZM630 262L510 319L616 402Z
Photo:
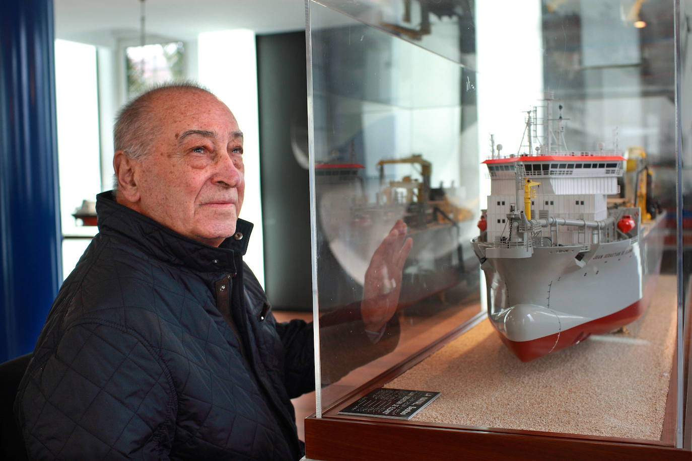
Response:
M99 234L17 395L29 457L300 458L289 399L314 386L312 326L275 322L242 261L252 225L238 219L235 117L197 86L163 86L122 109L115 144L117 191L98 196ZM399 221L343 329L355 333L337 322L329 335L365 344L348 366L396 345L387 323L410 246Z

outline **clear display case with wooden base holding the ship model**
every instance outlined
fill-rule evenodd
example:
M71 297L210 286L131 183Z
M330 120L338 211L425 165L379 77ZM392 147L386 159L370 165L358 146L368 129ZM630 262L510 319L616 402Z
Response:
M306 1L307 458L689 459L691 12Z

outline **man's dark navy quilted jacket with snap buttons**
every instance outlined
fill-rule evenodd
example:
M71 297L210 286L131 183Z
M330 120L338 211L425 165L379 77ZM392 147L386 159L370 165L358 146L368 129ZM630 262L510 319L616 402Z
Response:
M289 399L314 386L312 327L267 312L242 263L252 225L215 248L110 192L97 209L19 387L29 457L300 458Z

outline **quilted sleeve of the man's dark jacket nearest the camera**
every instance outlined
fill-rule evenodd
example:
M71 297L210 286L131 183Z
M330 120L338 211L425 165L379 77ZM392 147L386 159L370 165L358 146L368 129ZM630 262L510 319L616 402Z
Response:
M122 326L80 323L35 352L15 413L28 456L167 459L176 397L143 339Z

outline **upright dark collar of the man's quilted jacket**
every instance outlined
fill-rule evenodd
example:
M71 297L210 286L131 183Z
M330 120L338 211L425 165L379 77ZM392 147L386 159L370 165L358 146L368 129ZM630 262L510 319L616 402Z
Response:
M243 256L253 224L238 219L236 234L219 247L192 240L168 229L148 216L116 202L113 191L96 196L96 214L100 233L116 232L133 239L161 261L185 265L203 272L237 272L236 256Z

